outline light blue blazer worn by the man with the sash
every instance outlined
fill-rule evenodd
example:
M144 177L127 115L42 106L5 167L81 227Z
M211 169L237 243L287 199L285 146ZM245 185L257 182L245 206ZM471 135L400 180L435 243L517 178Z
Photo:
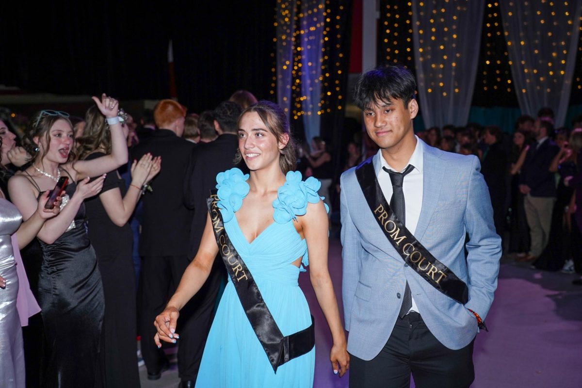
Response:
M497 288L501 239L481 165L475 156L423 146L423 204L416 231L410 231L434 257L469 287L461 305L404 265L378 226L355 168L342 174L342 294L347 350L366 361L374 358L392 333L408 281L428 329L446 347L467 346L478 332L469 309L485 319ZM379 155L372 156L376 172ZM386 198L390 202L390 198ZM465 258L464 239L469 234Z

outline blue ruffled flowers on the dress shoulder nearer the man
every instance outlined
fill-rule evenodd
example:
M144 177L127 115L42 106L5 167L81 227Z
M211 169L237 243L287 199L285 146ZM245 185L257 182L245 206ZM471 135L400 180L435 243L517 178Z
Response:
M299 171L289 171L285 176L285 184L279 187L277 198L273 201L273 219L276 223L286 223L291 219L296 220L297 216L302 216L307 212L307 203L317 204L324 199L317 195L317 190L321 187L321 182L313 176L305 181ZM325 204L324 204L325 205ZM328 206L325 205L328 212Z

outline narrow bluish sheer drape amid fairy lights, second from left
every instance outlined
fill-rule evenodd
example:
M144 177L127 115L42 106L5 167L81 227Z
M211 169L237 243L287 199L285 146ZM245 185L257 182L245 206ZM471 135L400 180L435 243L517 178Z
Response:
M301 1L301 95L307 144L320 135L321 64L325 0Z

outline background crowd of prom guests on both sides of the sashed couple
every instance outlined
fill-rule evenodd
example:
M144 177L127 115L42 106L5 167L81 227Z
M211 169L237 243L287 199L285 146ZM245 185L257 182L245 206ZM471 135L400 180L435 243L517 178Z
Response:
M84 118L38 112L22 139L8 119L0 121L0 188L25 222L38 224L38 239L23 237L28 244L20 245L30 289L42 308L42 319L34 315L38 307L19 311L21 321L31 318L22 323L29 324L23 330L24 356L16 354L22 348L17 330L0 327L13 343L10 355L0 354L0 364L8 359L18 364L12 375L5 373L8 386L23 386L26 360L28 386L139 387L138 334L148 378L158 379L169 361L152 340L152 322L196 254L206 222L200 209L206 208L217 173L245 169L237 158L237 119L257 102L248 91L200 114L165 99L137 122L115 99L94 100ZM553 112L544 108L537 118L520 116L513 134L472 123L431 127L417 136L443 151L478 156L506 254L538 269L582 272L582 116L571 129L555 129ZM297 169L321 181L318 195L335 215L339 174L374 155L373 144L360 133L342 144L339 158L321 137L298 147ZM43 193L62 176L69 178L65 194L54 211L43 212L38 200L44 207ZM330 216L339 222L332 211ZM2 234L12 234L17 225L4 229ZM13 245L10 255L16 257L19 248ZM14 281L16 275L10 276ZM19 278L29 291L26 275ZM180 342L183 386L196 380L225 280L217 260L203 292L181 312L178 331L198 333ZM16 297L6 295L0 290L0 298ZM31 296L27 300L35 305ZM99 359L90 357L97 354ZM8 366L0 367L5 370Z

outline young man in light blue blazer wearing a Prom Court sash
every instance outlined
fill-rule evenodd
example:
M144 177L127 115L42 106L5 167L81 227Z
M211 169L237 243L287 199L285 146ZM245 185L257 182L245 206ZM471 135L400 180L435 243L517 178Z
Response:
M411 373L418 388L469 387L497 287L501 239L479 160L414 135L415 89L409 70L388 65L354 91L380 149L341 177L352 387L408 387Z

